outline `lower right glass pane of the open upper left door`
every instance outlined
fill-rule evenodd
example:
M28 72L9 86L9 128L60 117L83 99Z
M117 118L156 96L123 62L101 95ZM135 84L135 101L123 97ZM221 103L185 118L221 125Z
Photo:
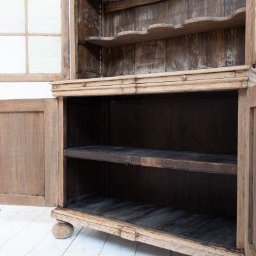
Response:
M29 73L61 73L61 36L28 37Z

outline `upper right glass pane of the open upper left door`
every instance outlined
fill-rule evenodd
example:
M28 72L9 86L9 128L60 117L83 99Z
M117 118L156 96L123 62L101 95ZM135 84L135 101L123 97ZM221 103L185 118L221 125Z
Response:
M29 33L61 33L60 0L28 0Z

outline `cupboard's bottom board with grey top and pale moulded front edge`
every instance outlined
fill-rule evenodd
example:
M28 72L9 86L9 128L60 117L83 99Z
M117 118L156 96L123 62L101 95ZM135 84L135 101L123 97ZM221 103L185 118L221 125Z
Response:
M233 255L236 248L236 219L230 219L202 212L174 209L170 206L147 204L132 200L93 196L83 202L68 205L66 209L59 207L52 211L54 218L66 221L80 221L86 227L109 232L133 241L140 241L143 236L153 236L156 239L166 239L163 244L172 246L175 243L189 241L198 244L208 244L215 248L209 250L209 255L216 255L220 249L225 252L218 255ZM164 234L164 236L163 236ZM167 237L166 237L167 235ZM192 240L192 241L191 241ZM225 248L223 248L225 247ZM191 246L193 248L193 246ZM214 249L215 253L211 254ZM170 250L172 250L170 248ZM213 252L213 251L212 251ZM230 254L229 254L230 253ZM237 253L237 254L236 254Z

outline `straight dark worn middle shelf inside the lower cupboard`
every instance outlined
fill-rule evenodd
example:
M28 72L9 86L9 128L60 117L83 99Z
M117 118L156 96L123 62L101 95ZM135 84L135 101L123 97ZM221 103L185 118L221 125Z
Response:
M195 172L237 174L237 156L228 154L93 145L68 148L65 156Z

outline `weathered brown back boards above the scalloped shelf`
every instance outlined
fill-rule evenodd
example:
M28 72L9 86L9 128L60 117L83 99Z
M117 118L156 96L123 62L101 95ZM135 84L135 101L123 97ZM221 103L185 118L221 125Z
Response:
M146 30L153 24L182 24L198 17L224 17L245 7L245 0L164 0L129 9L107 12L105 36Z

